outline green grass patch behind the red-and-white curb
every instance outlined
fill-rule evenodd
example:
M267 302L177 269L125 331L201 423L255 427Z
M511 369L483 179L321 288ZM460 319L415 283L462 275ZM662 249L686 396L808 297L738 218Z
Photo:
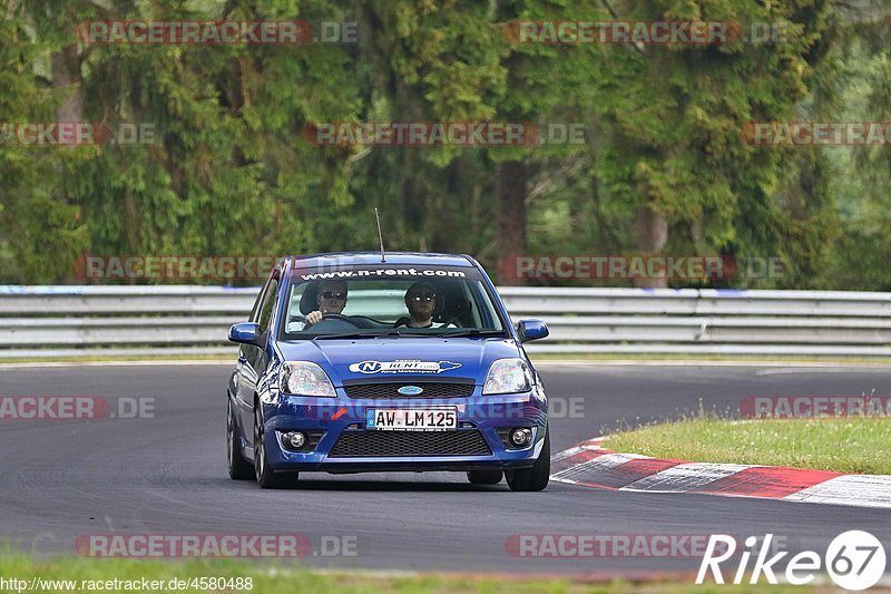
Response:
M701 415L618 432L604 447L699 462L891 475L889 418L732 421Z

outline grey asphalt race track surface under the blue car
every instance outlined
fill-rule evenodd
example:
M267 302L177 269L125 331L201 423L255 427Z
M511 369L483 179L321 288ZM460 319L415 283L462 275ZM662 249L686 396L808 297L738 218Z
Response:
M891 368L539 363L559 451L617 427L746 396L891 395ZM866 529L891 545L891 513L705 495L635 494L551 483L539 494L473 487L459 474L301 476L295 490L232 481L225 465L231 366L0 368L0 396L154 397L155 418L0 420L0 538L75 554L91 534L304 534L355 537L355 556L322 566L375 569L688 572L699 558L518 558L517 534L773 533L793 553L824 552ZM570 410L572 413L570 415ZM568 418L574 417L574 418ZM316 551L317 553L319 551Z

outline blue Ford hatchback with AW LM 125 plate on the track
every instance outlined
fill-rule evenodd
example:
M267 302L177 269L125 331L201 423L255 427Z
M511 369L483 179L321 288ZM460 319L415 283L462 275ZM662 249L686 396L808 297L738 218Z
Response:
M229 476L451 470L541 490L548 401L522 344L547 335L511 323L470 256L282 259L229 331Z

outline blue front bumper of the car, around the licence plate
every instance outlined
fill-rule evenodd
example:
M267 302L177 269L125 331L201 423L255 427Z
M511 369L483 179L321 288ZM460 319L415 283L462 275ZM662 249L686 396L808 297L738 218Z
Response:
M473 396L467 398L381 398L351 399L339 389L337 398L307 398L278 395L262 402L265 423L265 449L270 468L275 471L327 471L362 473L382 470L470 470L517 469L531 467L544 446L547 427L547 398L536 387L528 392L498 396ZM428 431L378 431L365 429L365 411L370 408L442 408L454 407L458 411L458 429L438 437ZM532 445L513 449L506 445L506 429L528 427L535 432ZM499 429L501 430L499 434ZM282 444L286 431L323 431L317 444L309 451L291 451ZM464 434L460 434L464 431ZM435 445L443 441L474 442L478 436L484 442L472 454L441 454ZM394 436L392 434L402 434ZM382 434L390 434L382 436ZM414 435L407 435L414 434ZM423 436L419 434L425 434ZM458 435L460 434L460 435ZM364 452L356 447L337 447L344 437L353 444L378 444L376 451ZM370 439L366 439L370 438ZM378 439L383 438L383 439ZM393 451L380 451L381 442L399 442ZM423 448L401 447L405 444L424 442ZM349 451L344 454L344 451ZM418 449L411 455L407 450ZM454 447L452 446L452 449ZM423 450L423 451L421 451Z

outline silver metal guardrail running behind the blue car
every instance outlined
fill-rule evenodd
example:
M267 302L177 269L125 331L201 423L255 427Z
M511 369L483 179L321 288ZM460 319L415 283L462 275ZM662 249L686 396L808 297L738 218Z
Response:
M0 359L232 353L256 289L0 286ZM891 293L501 288L530 352L891 356ZM351 301L352 303L352 301Z

